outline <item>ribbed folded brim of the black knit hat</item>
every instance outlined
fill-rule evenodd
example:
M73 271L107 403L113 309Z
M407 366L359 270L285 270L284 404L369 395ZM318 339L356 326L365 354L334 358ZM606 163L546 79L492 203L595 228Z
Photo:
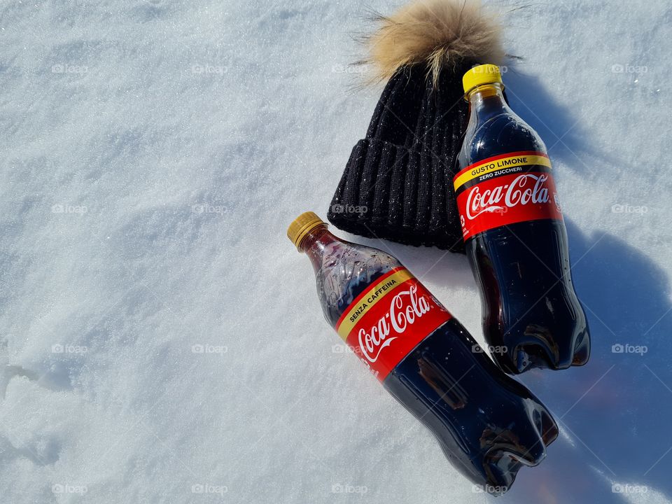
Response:
M365 237L462 251L453 169L428 149L378 139L354 146L332 199L328 219Z

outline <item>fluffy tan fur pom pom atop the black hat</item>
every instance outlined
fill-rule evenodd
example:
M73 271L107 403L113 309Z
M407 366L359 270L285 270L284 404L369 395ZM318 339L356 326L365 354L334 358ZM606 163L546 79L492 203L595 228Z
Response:
M501 28L478 0L414 0L365 38L375 80L388 80L405 65L426 64L434 85L445 66L464 60L501 64Z

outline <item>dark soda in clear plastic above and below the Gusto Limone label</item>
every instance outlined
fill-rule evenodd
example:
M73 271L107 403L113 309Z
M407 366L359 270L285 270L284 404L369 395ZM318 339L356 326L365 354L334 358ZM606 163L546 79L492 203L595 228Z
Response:
M480 86L470 96L458 171L518 151L546 153L546 147L506 104L499 84ZM563 221L494 228L470 237L465 249L481 294L486 341L506 349L492 353L503 370L559 370L587 362L588 323L572 283Z

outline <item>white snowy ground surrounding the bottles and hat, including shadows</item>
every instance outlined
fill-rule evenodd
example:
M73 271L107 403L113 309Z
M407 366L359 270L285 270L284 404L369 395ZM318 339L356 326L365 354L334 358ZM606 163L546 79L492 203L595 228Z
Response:
M672 9L531 3L506 18L525 59L505 83L554 160L593 353L523 377L562 435L498 502L669 502ZM285 236L325 214L377 101L346 66L364 15L0 4L3 502L492 500L332 351ZM354 239L390 248L481 339L465 258Z

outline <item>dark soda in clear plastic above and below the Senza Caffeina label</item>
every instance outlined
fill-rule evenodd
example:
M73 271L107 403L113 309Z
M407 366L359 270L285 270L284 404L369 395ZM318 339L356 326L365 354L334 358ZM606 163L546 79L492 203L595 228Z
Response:
M300 250L313 264L332 327L363 290L401 266L376 248L338 239L324 225L309 232ZM383 386L435 435L454 467L489 493L507 491L519 468L540 463L558 435L544 405L501 372L455 318L402 358Z

